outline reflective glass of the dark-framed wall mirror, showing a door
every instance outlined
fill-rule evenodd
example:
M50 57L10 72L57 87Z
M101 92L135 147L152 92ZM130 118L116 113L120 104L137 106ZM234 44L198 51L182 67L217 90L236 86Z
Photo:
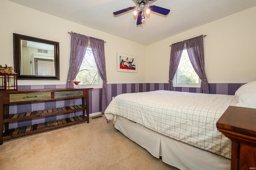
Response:
M20 40L21 74L55 76L54 45Z

